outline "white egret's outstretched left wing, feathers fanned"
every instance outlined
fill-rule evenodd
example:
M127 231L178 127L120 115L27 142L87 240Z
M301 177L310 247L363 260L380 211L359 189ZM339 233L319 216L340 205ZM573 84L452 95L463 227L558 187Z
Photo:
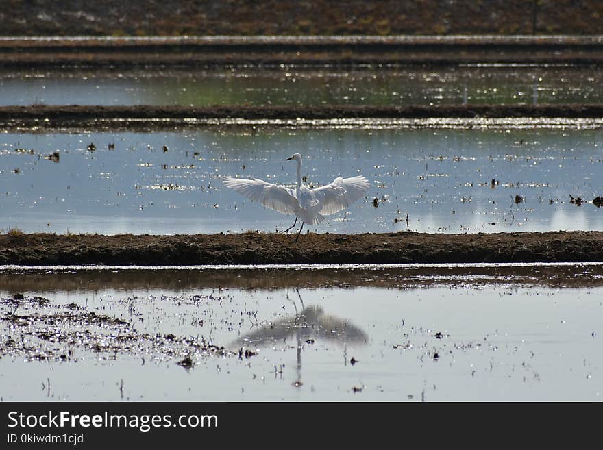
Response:
M296 214L299 208L293 189L267 183L258 178L223 177L222 182L227 188L235 190L251 201L257 201L266 208L282 212L282 214Z

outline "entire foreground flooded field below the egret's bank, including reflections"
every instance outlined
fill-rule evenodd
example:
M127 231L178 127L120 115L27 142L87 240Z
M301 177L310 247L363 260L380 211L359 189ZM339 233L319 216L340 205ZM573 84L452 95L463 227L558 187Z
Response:
M599 401L600 264L0 273L3 401Z

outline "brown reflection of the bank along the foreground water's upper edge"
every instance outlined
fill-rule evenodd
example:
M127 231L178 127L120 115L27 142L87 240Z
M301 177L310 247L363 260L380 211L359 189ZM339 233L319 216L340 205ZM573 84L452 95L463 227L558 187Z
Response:
M274 266L273 266L274 267ZM278 268L136 268L121 269L32 269L0 271L0 292L35 295L37 292L98 292L117 290L199 290L297 288L395 288L423 289L428 286L549 286L595 288L603 286L603 265L523 266L337 266L306 270Z

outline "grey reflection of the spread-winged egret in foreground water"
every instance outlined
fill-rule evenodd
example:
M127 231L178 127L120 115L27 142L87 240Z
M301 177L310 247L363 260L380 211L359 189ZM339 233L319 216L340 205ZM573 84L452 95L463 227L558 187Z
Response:
M304 300L295 288L301 311L297 308L297 303L293 303L295 314L278 321L269 322L266 325L259 325L256 329L245 336L236 340L235 345L256 349L258 347L267 347L278 342L284 342L295 336L297 339L297 380L293 386L302 386L302 350L304 345L314 345L321 340L328 340L336 344L347 345L365 345L368 336L356 325L352 325L346 319L325 314L323 308L318 305L304 306Z

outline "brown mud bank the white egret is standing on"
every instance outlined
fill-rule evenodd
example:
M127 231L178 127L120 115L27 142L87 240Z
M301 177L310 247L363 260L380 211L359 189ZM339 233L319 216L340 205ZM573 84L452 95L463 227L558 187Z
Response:
M0 264L603 262L603 232L493 234L3 234Z

